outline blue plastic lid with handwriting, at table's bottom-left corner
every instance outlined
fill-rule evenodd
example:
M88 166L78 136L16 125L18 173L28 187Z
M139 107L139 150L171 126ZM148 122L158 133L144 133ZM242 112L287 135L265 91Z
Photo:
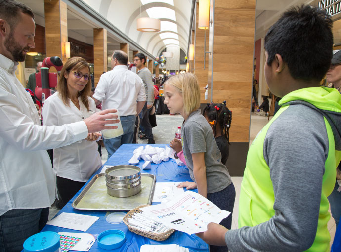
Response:
M24 252L55 252L60 247L60 236L56 232L41 232L24 242Z

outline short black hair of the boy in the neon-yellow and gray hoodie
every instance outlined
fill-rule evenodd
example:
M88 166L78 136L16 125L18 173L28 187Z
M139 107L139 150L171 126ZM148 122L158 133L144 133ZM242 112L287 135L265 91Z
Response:
M320 81L333 53L333 21L324 10L301 5L284 12L265 36L270 66L281 55L294 79Z

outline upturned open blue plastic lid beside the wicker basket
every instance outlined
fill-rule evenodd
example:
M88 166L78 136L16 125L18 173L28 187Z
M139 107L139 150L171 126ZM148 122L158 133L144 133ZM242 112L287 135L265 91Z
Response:
M121 230L112 229L99 234L97 237L98 246L105 250L113 250L122 246L126 235Z

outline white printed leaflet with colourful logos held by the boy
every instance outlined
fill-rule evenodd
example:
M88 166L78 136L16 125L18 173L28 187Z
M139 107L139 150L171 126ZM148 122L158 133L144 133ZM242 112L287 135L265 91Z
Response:
M169 202L144 207L143 212L190 235L206 231L210 222L220 223L231 214L192 191L186 191Z

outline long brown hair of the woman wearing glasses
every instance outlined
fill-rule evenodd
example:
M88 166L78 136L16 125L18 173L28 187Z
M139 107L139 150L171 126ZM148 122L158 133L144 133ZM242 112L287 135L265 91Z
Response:
M89 69L89 79L87 80L87 84L85 85L84 89L78 92L77 97L81 96L82 103L84 104L86 109L89 110L89 102L87 100L87 96L90 94L91 91L90 67L86 60L81 57L72 57L65 63L62 70L60 71L57 91L59 92L59 95L66 106L70 106L69 98L71 97L69 97L67 79L64 77L64 74L65 72L70 73L71 70L79 71L80 69L85 67Z

